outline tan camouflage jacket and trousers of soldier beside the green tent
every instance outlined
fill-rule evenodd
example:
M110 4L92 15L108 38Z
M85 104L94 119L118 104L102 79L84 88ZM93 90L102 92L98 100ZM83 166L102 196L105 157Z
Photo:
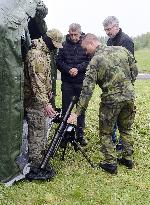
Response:
M25 66L25 108L28 120L29 159L39 166L46 148L46 117L44 106L49 103L50 56L44 41L35 39L27 54Z

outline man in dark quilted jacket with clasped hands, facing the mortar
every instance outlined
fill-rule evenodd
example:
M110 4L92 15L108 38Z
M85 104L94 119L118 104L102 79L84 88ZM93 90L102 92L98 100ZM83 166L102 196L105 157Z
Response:
M62 115L65 115L73 96L80 96L86 67L90 57L81 47L81 26L72 23L69 26L69 34L66 36L63 48L59 49L56 64L61 72L62 80ZM82 145L87 145L84 138L85 114L77 119L77 140Z

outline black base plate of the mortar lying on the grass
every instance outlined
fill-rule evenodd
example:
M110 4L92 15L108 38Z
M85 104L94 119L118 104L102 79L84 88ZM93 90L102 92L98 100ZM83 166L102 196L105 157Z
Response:
M32 180L51 180L56 175L53 168L32 168L25 178L29 181Z

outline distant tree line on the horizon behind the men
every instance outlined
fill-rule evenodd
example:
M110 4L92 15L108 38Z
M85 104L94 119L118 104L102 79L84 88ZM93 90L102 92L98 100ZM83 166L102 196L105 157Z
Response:
M108 37L99 37L101 42L106 44ZM150 48L150 32L132 38L134 41L135 50Z

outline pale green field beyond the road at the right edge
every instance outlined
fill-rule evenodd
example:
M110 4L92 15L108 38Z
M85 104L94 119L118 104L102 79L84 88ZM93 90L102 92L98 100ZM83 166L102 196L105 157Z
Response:
M145 48L135 51L135 58L139 67L139 72L150 73L150 49Z

